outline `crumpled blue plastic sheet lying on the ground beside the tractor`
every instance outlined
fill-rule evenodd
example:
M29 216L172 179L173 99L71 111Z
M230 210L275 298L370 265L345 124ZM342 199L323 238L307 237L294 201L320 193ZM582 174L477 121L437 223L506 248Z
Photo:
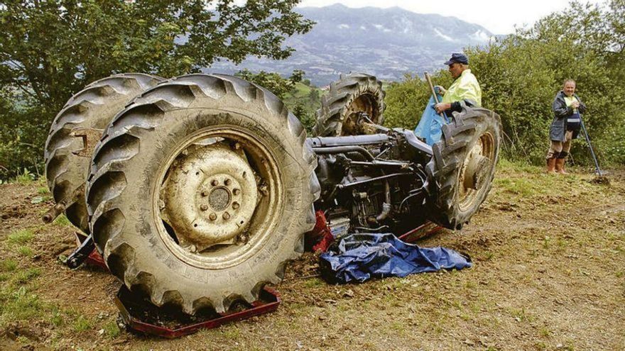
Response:
M341 284L471 266L471 259L460 252L445 247L418 247L390 233L350 234L321 255L324 276Z

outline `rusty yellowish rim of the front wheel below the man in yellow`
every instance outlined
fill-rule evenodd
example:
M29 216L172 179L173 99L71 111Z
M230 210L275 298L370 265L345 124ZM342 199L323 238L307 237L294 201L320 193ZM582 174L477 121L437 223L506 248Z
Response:
M484 177L488 177L494 165L494 152L494 137L491 133L487 132L479 136L477 142L472 149L467 152L467 156L464 157L464 162L462 162L457 181L457 196L460 211L466 211L471 208L474 205L474 201L478 199L482 186L487 184L487 179L484 179ZM484 158L488 159L488 169L483 169L483 167L471 167L471 165L479 164L481 161L482 165L484 165ZM475 187L477 187L477 189L474 189Z

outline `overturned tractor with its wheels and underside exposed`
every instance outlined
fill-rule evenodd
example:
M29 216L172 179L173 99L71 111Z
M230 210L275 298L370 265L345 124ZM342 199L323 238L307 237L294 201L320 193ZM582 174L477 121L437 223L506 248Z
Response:
M67 101L45 145L56 206L110 271L156 306L227 311L257 299L322 217L335 235L460 229L491 189L501 122L464 108L440 143L386 128L381 83L349 74L315 136L237 77L119 74ZM315 216L315 212L317 216ZM315 240L315 238L310 238Z

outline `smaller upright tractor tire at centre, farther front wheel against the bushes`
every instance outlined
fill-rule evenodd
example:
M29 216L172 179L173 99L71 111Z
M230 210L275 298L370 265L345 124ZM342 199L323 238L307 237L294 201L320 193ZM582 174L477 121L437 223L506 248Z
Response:
M382 82L376 77L363 73L341 75L322 97L312 133L322 137L363 134L359 113L366 113L372 122L381 125L384 108Z

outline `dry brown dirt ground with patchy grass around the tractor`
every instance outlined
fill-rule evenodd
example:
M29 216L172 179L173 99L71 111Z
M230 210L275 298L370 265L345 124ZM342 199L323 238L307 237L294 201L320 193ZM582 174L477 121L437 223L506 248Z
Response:
M119 330L119 282L58 263L74 228L40 223L43 183L0 185L0 350L625 350L625 172L591 180L502 162L470 225L419 242L472 269L334 286L307 254L278 311L178 340Z

